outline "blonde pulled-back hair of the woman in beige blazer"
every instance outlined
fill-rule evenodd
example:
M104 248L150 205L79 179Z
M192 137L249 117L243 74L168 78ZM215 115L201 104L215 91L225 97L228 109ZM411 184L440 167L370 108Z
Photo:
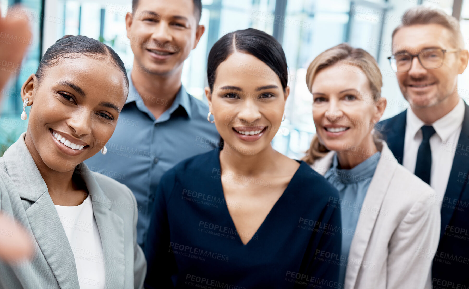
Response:
M318 72L336 63L360 68L368 78L373 100L378 101L381 98L383 80L381 79L381 72L379 71L379 66L375 58L363 49L353 48L347 43L341 43L329 48L314 58L306 72L306 85L310 92L312 92L313 81ZM315 160L324 157L327 152L329 152L329 150L319 142L318 134L316 134L303 160L309 165L312 165Z

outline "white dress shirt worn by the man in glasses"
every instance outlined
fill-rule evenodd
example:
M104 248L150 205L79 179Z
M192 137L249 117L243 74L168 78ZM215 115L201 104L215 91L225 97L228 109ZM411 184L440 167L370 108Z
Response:
M430 186L435 190L436 195L431 197L431 201L439 202L440 207L453 166L463 118L464 101L461 98L449 113L432 124L424 123L412 109L407 109L402 165L412 173L415 172L417 152L423 138L420 128L425 124L433 126L436 132L430 137Z

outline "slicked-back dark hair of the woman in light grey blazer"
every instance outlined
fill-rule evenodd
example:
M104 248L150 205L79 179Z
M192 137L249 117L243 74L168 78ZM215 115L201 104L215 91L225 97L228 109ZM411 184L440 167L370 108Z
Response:
M39 82L45 74L45 69L49 66L57 65L61 58L73 58L70 54L80 53L85 56L97 59L109 59L111 64L120 70L125 77L125 83L129 87L129 78L121 58L113 49L96 39L86 36L66 35L57 40L47 51L39 62L36 77Z

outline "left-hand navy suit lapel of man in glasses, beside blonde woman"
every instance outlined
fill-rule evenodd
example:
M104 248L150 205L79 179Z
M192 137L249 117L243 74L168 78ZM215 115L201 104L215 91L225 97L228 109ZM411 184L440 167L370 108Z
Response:
M386 143L389 146L394 157L402 165L402 158L404 156L404 138L406 135L406 119L407 110L404 110L397 116L389 121L386 127L383 128L382 133L386 136Z

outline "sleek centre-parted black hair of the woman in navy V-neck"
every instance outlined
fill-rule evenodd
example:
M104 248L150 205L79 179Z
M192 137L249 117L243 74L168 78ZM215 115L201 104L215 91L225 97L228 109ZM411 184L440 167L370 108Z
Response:
M230 32L213 44L207 60L207 80L211 92L218 66L235 50L246 52L268 65L280 78L283 91L285 91L288 83L288 68L282 46L264 31L248 28Z

